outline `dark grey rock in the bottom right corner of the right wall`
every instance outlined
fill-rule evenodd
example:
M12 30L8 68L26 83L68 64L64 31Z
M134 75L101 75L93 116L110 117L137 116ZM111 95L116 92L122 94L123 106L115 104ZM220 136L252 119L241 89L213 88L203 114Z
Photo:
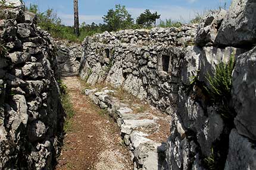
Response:
M238 134L233 129L229 136L229 154L225 170L255 169L256 168L256 149L246 137Z

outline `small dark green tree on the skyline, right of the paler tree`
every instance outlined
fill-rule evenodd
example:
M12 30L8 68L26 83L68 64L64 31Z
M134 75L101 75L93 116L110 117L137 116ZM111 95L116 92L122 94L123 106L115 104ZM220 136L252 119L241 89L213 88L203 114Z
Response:
M143 25L144 27L151 27L152 24L155 24L157 19L160 18L161 15L158 15L157 12L151 13L149 9L146 9L136 20L136 23L139 25Z

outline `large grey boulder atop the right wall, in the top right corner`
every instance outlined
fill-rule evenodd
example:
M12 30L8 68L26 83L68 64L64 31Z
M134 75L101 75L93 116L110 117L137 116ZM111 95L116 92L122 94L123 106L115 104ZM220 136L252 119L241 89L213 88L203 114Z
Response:
M221 23L216 44L246 47L256 43L256 2L233 0Z

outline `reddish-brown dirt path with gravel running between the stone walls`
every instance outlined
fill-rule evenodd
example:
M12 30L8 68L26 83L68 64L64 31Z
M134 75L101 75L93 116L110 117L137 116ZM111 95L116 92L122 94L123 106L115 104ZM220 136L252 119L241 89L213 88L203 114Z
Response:
M61 169L133 169L129 150L121 145L117 125L82 94L77 77L65 77L64 84L76 111L71 130L57 165Z

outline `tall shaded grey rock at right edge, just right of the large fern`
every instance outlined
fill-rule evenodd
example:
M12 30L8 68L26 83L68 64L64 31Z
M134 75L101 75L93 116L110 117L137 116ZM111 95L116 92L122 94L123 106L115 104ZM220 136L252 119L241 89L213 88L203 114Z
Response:
M256 140L256 48L238 56L233 72L233 101L238 133Z

